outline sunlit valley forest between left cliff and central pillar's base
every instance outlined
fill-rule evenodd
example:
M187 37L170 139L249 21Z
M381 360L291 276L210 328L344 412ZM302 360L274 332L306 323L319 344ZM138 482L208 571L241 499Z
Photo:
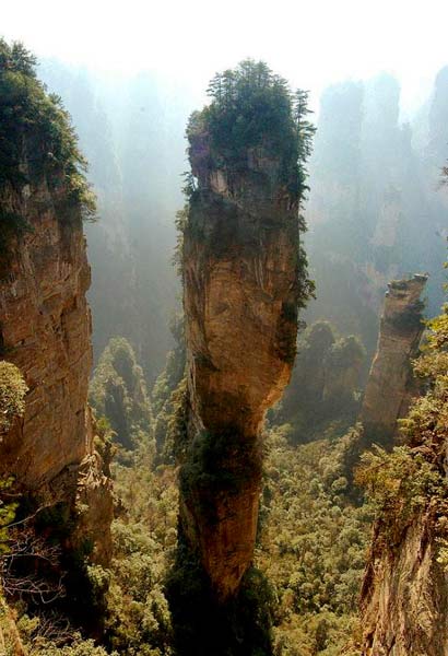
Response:
M172 628L164 577L177 542L175 471L153 471L153 456L142 450L132 468L116 465L114 475L122 512L113 524L107 642L128 656L168 656Z

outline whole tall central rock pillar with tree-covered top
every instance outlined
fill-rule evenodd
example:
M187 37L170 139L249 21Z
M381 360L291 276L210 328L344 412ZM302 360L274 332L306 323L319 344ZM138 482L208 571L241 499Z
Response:
M209 91L212 103L187 131L192 177L181 216L180 539L220 607L232 604L252 561L261 425L290 379L297 309L310 291L298 245L310 126L305 96L294 115L286 83L263 63L243 62Z

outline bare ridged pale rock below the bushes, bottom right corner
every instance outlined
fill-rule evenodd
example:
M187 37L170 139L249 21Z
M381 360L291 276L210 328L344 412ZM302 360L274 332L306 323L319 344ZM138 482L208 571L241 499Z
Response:
M448 574L434 517L421 514L396 548L377 538L362 590L363 656L445 656Z

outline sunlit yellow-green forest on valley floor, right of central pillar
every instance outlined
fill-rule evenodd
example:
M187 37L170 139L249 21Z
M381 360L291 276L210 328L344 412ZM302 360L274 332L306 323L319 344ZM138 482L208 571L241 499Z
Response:
M340 654L356 624L369 517L346 501L342 441L269 434L256 565L278 605L274 654Z

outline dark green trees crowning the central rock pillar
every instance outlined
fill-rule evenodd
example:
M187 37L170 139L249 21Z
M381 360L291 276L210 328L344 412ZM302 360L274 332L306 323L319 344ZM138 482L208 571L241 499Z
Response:
M190 142L194 134L208 134L212 161L232 171L246 168L248 151L262 147L267 155L281 156L283 181L293 197L302 198L315 132L307 120L307 92L294 95L263 61L246 59L234 70L216 73L208 94L209 106L190 118ZM187 183L187 192L193 191Z

